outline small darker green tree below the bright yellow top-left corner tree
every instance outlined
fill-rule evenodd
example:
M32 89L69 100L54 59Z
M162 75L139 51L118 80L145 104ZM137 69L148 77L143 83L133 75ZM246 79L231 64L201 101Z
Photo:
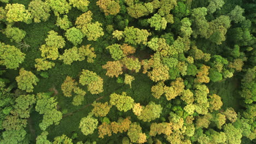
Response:
M26 32L22 29L19 29L18 27L11 27L7 26L7 28L4 31L4 34L7 38L10 38L10 41L15 41L16 43L19 43L22 39L25 38Z

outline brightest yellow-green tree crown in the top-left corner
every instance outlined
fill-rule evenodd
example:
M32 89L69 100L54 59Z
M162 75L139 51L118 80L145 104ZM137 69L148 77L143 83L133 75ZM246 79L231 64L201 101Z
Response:
M25 9L23 4L7 4L5 6L6 20L8 22L26 22L27 24L31 23L31 14L28 10Z

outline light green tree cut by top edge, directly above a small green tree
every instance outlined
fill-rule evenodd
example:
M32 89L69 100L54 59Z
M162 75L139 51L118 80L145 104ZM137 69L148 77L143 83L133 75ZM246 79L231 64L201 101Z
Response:
M70 4L66 0L46 0L51 10L54 11L54 15L60 16L60 14L67 14L71 9Z

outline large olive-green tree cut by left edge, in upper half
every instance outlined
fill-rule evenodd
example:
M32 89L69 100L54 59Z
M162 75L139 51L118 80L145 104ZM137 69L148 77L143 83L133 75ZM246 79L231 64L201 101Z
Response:
M25 59L25 53L22 53L15 46L0 43L0 64L8 69L16 69Z

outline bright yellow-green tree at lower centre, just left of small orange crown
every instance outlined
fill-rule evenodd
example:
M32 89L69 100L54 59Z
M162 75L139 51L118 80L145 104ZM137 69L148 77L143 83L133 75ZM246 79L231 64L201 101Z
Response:
M115 105L117 106L117 109L119 111L128 111L131 110L134 104L134 100L127 96L125 92L123 92L122 94L110 94L110 101L109 103L111 105Z

